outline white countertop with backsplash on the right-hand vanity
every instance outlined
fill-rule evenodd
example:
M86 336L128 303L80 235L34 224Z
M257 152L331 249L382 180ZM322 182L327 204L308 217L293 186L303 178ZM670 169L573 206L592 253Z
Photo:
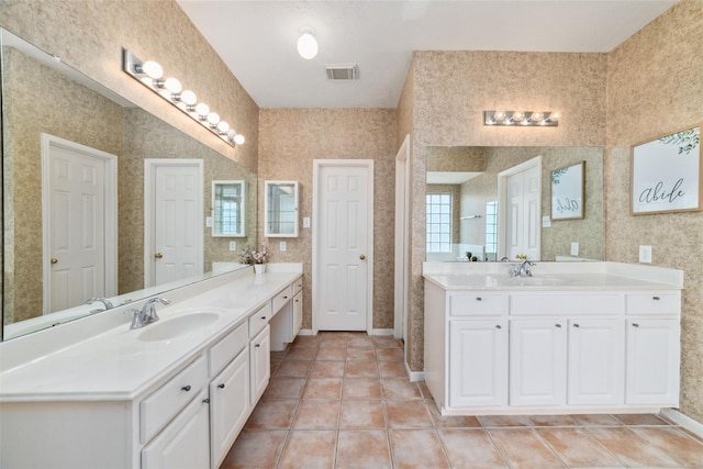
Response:
M445 290L656 290L683 288L681 270L618 263L535 263L533 277L514 277L516 263L425 263L423 277Z

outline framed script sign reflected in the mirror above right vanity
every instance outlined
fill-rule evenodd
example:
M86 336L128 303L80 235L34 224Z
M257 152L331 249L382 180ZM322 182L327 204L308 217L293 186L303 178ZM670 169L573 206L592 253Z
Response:
M585 161L551 171L551 220L583 217Z

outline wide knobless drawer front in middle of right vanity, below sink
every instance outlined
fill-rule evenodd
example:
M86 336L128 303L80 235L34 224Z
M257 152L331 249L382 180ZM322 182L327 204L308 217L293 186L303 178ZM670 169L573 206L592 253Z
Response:
M535 293L511 294L511 314L624 314L625 298L620 293Z

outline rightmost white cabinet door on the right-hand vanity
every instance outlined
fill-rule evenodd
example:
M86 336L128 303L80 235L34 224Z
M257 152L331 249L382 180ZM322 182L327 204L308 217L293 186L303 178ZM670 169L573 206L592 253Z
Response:
M679 405L680 326L671 320L627 320L627 404Z

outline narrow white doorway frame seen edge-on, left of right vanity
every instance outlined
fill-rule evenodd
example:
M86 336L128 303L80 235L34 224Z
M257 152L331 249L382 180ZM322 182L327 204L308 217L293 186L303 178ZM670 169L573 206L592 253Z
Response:
M410 134L395 155L395 280L393 336L408 340L410 282Z

